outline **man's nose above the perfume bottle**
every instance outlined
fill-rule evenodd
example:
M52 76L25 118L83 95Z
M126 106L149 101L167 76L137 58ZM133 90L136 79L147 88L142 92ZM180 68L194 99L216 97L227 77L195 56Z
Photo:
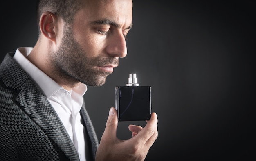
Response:
M126 39L122 32L115 32L109 36L106 50L108 54L112 55L112 57L126 57Z

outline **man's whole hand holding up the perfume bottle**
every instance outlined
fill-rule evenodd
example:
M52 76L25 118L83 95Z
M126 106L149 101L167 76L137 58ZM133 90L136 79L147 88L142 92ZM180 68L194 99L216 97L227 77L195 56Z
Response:
M130 125L132 138L120 140L117 138L117 111L114 107L110 108L95 161L144 161L158 136L157 121L157 114L152 113L144 128Z

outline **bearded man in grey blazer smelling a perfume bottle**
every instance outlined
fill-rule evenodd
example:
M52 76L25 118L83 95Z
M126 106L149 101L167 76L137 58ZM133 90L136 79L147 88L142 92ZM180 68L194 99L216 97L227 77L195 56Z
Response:
M0 160L142 161L157 139L157 115L116 137L110 108L98 143L85 110L86 85L101 86L125 57L132 0L39 0L34 48L0 65Z

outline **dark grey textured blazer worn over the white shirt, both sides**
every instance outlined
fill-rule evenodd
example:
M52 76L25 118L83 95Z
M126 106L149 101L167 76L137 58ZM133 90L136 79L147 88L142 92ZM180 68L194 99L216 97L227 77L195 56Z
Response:
M13 55L0 65L0 161L79 161L54 108ZM84 103L80 113L95 160L99 143Z

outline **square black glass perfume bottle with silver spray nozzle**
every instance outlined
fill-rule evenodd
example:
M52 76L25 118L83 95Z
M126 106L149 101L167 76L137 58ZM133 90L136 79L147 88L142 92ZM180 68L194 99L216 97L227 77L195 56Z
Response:
M126 86L115 87L118 121L150 120L151 87L139 86L135 73L129 74Z

